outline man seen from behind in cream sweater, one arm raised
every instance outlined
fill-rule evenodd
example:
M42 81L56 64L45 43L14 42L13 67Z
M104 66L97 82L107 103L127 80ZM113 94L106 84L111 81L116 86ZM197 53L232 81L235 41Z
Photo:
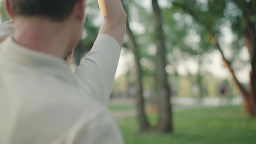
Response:
M105 108L125 33L121 1L98 0L104 23L75 73L63 59L79 42L85 0L5 3L14 34L0 44L0 144L123 144Z

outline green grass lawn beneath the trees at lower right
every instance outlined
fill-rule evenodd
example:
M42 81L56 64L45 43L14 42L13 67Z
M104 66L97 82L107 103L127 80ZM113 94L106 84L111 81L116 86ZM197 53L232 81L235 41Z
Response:
M150 117L155 123L156 117ZM174 113L174 134L138 134L136 118L119 119L125 144L256 144L256 119L240 107L203 108Z

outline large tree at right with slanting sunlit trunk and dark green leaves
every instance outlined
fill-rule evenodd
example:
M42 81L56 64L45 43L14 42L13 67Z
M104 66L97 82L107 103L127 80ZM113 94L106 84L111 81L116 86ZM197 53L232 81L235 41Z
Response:
M204 29L210 33L213 38L213 44L219 50L223 61L226 63L227 68L229 69L236 85L240 89L240 92L243 94L244 99L244 108L246 112L250 115L255 117L256 116L256 28L255 28L255 0L208 0L208 10L207 13L200 9L199 7L202 6L200 2L197 0L191 1L184 1L180 0L177 2L171 1L171 3L175 7L179 7L184 10L185 13L190 14L194 20L202 25ZM235 16L229 15L226 13L226 9L229 5L236 4L237 7L240 8L242 15L239 14L239 9L236 9ZM218 5L218 6L217 6ZM193 9L191 9L193 7ZM237 12L238 11L238 12ZM236 77L235 71L232 67L233 61L227 59L223 52L223 48L220 45L218 27L220 27L220 23L222 19L228 20L232 23L233 32L236 33L237 37L241 39L241 35L245 37L245 44L249 49L250 53L250 64L252 66L252 70L250 72L250 85L249 89L243 87L243 85L239 82ZM223 21L223 20L222 20ZM236 26L236 27L235 27ZM243 29L241 29L243 28ZM236 39L239 41L240 39ZM240 46L238 43L236 43ZM241 46L239 47L239 49ZM235 48L233 48L235 49Z

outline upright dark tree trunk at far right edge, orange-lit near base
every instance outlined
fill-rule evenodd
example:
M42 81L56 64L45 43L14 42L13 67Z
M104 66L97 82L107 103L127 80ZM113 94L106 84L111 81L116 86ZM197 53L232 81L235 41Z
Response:
M249 90L243 93L244 108L249 115L256 117L256 0L232 0L240 10L244 22L244 40L250 54L250 84Z

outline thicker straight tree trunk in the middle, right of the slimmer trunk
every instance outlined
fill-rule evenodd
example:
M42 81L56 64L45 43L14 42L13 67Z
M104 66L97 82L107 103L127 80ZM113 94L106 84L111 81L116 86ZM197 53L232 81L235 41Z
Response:
M170 102L171 92L167 82L167 72L165 71L166 46L163 31L163 20L158 0L152 0L152 7L154 16L155 39L157 46L156 85L157 95L159 98L158 128L159 131L162 133L169 133L173 132L172 111Z

